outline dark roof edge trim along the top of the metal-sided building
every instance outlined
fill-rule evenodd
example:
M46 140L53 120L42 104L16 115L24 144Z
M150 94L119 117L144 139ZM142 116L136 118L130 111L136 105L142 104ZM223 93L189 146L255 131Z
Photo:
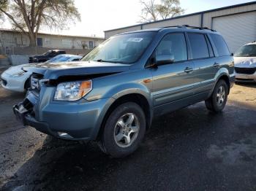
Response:
M200 14L204 14L204 13L207 13L207 12L214 12L214 11L219 11L219 10L223 10L223 9L230 9L230 8L241 7L241 6L251 5L251 4L256 4L256 1L251 1L251 2L244 3L244 4L234 4L234 5L231 5L231 6L220 7L220 8L217 8L217 9L210 9L210 10L206 10L206 11L202 11L202 12L194 12L194 13L187 14L187 15L180 15L180 16L177 16L177 17L171 17L171 18L167 18L167 19L164 19L164 20L157 20L157 21L148 22L148 23L141 23L141 24L133 25L133 26L125 26L125 27L121 27L121 28L114 28L114 29L110 29L110 30L107 30L107 31L104 31L104 32L116 31L116 30L135 27L135 26L143 26L143 25L151 24L151 23L159 23L159 22L166 21L166 20L173 20L173 19L177 19L177 18L181 18L181 17L189 17L189 16L193 16L193 15L200 15Z

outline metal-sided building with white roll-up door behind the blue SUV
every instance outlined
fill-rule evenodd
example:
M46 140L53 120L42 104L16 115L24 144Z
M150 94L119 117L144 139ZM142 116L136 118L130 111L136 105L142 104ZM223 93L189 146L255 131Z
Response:
M230 51L235 52L241 45L256 40L256 1L105 31L105 39L127 31L179 25L215 29L224 36Z

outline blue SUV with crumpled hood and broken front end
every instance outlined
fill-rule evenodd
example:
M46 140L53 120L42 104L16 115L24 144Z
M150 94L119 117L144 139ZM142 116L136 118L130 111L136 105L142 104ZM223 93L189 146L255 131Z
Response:
M221 112L234 82L220 34L176 26L118 34L74 63L29 70L31 87L13 106L23 125L61 139L94 140L103 152L134 152L157 115L200 101Z

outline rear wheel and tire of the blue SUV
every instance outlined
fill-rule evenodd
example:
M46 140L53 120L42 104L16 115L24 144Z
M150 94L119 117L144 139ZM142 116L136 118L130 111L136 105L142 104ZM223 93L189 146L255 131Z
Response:
M211 97L205 101L206 108L211 112L222 112L227 103L227 93L227 83L223 79L220 79L214 87L214 92L211 94Z

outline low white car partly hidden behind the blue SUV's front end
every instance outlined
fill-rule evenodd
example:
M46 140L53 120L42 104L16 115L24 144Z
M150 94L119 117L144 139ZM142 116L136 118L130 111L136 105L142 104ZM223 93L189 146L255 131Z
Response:
M57 55L51 58L46 63L56 63L56 62L69 62L69 61L79 61L82 58L80 55ZM17 92L26 91L29 86L29 77L31 72L23 71L23 67L36 66L40 63L26 63L18 66L12 66L1 74L1 85L7 90L13 90Z

